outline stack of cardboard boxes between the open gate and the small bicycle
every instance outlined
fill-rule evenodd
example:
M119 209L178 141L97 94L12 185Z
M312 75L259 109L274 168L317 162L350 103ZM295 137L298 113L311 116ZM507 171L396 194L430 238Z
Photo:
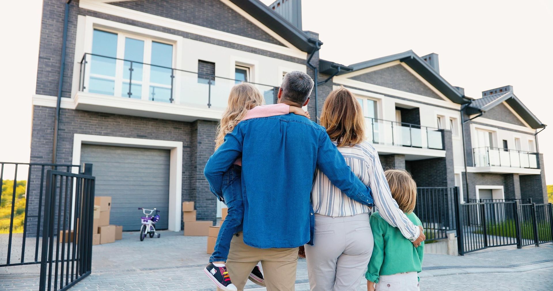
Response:
M109 244L120 240L123 226L109 224L111 212L111 197L98 196L94 198L94 221L92 223L92 245Z

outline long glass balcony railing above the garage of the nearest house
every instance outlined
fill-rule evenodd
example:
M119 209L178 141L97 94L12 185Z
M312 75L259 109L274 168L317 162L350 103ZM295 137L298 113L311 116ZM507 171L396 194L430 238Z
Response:
M88 53L80 62L79 91L155 102L225 108L232 86L239 82L206 73ZM278 87L249 83L259 89L266 104L275 103Z

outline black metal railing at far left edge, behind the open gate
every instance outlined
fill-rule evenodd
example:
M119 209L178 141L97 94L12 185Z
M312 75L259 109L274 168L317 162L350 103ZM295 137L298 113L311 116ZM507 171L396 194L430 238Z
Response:
M0 162L0 267L40 263L46 171L77 171L77 165ZM4 255L6 255L4 257Z

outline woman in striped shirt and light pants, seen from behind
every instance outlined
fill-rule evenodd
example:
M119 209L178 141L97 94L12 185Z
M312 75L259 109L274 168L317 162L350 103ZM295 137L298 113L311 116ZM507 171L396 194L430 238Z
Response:
M321 125L352 171L371 187L382 218L411 241L424 239L390 194L378 153L365 141L363 111L353 94L343 87L332 91L322 110ZM371 208L347 197L319 170L311 195L315 237L313 246L305 245L311 290L357 290L373 250Z

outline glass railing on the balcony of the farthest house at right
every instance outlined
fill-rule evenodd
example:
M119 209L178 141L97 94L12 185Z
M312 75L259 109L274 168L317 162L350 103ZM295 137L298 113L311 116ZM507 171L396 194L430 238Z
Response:
M472 149L475 167L538 168L538 153L484 146Z

